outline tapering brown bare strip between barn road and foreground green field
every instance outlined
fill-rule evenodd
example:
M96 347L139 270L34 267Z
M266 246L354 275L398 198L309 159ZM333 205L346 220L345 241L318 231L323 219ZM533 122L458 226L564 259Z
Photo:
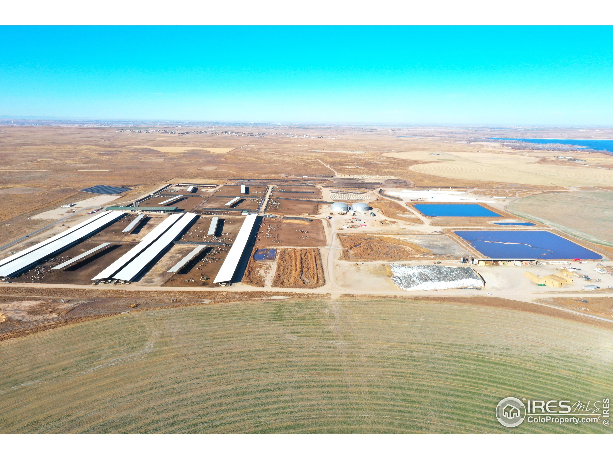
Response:
M283 292L169 291L161 296L155 291L105 291L103 289L28 289L0 288L0 341L33 332L46 331L66 324L118 315L136 310L183 307L198 304L288 298L325 299L329 294ZM275 297L276 298L276 297ZM61 300L64 300L62 302ZM130 307L130 305L137 305ZM0 317L1 318L1 317Z

